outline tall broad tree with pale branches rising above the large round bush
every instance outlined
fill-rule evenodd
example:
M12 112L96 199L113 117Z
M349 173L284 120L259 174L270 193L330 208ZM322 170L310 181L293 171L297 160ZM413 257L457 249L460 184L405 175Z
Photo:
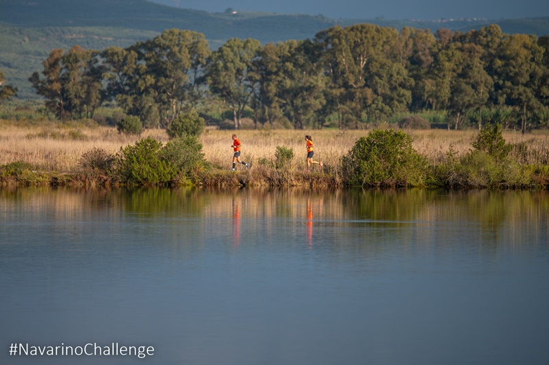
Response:
M316 35L323 49L331 98L342 126L363 116L377 121L408 108L413 80L404 57L410 53L406 35L377 25L332 27Z

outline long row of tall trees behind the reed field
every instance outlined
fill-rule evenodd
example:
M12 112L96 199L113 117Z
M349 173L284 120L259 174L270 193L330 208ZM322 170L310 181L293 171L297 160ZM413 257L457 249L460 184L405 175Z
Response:
M211 51L204 34L165 30L130 47L54 49L29 78L62 120L91 118L115 101L143 125L168 128L189 107L218 102L235 128L244 111L265 123L340 128L393 115L445 111L460 128L483 123L549 125L549 37L360 24L312 40L261 45L231 38Z

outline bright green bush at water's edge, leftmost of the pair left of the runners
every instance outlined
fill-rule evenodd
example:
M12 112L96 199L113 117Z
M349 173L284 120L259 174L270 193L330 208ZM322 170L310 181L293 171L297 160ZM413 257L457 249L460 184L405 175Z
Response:
M115 158L114 178L128 185L159 185L176 177L177 169L162 158L162 142L152 137L121 148Z

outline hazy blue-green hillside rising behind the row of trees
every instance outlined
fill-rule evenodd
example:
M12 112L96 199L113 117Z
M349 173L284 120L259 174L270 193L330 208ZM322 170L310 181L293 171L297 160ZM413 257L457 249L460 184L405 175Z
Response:
M498 23L507 33L549 34L549 17L502 20L392 21L388 19L327 19L325 16L255 12L208 13L172 8L145 0L0 0L0 69L21 98L36 97L27 78L41 71L40 62L54 48L80 45L104 49L126 47L154 38L165 29L205 34L212 49L229 38L255 38L262 44L313 38L334 25L372 23L384 27L445 27L466 32Z

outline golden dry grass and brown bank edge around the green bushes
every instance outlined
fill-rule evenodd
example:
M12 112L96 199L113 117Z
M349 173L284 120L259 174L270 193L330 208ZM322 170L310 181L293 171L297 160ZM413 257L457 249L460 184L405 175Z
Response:
M430 176L425 185L483 187L487 184L479 180L478 176L472 176L471 172L464 173L464 169L468 167L469 170L476 171L495 168L491 167L493 163L504 163L506 166L513 165L513 169L502 167L505 170L503 176L491 177L492 181L507 179L507 182L500 181L499 185L502 187L545 188L547 186L549 131L520 134L504 130L502 137L510 146L509 159L495 162L485 162L484 157L471 155L471 151L474 150L473 143L478 137L478 130L406 130L404 132L410 135L412 148L425 158ZM342 171L342 160L358 139L367 137L370 131L240 130L236 133L243 143L242 160L250 163L250 170L238 165L236 172L230 171L233 131L205 130L200 137L200 142L203 146L204 158L208 161L210 168L196 171L191 183L206 186L343 186L347 176ZM314 160L323 161L324 169L321 170L318 165L314 165L311 172L305 172L305 134L312 135L316 146ZM97 126L93 123L88 125L49 121L21 123L0 120L1 183L3 185L117 184L119 182L113 180L107 172L82 167L82 155L94 148L115 155L121 148L146 137L152 137L161 143L167 143L169 140L165 130L145 130L141 136L128 136L119 134L116 128ZM277 164L277 147L279 146L293 152L292 158L285 161L283 168ZM488 171L487 174L491 172ZM515 176L509 176L509 174ZM520 179L517 178L517 174L521 175ZM511 180L513 183L509 183ZM179 182L176 179L171 183Z

